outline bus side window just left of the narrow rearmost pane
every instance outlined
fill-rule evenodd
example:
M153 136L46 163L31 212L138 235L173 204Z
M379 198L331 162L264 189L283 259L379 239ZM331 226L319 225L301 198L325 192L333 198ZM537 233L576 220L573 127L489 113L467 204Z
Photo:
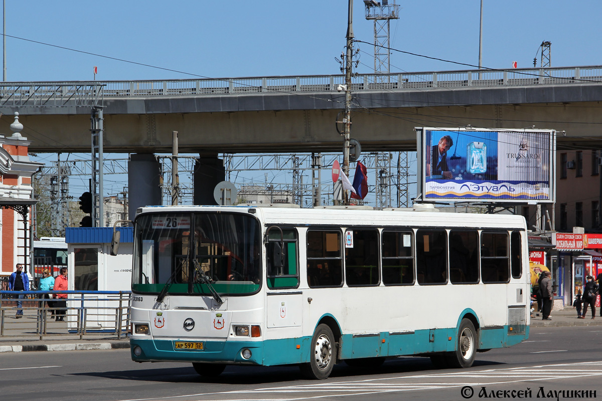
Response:
M481 233L483 283L507 283L509 279L508 233Z

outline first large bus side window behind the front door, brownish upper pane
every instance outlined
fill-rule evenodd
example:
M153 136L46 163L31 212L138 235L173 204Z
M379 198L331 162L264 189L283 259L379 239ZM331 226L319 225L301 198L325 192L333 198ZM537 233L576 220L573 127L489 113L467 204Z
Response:
M343 285L341 231L307 232L307 281L309 287Z

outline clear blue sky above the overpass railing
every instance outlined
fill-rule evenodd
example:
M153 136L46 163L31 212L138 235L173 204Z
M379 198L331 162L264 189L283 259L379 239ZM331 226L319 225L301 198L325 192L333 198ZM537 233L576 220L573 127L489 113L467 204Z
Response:
M392 1L392 0L391 0ZM552 66L602 64L602 1L485 0L483 66L533 65L543 40ZM397 0L392 47L477 64L479 0ZM6 0L7 35L213 78L338 73L345 44L345 0ZM373 42L364 2L354 1L354 32ZM359 72L373 69L373 47ZM465 67L394 52L391 70ZM170 79L187 75L7 38L7 81Z

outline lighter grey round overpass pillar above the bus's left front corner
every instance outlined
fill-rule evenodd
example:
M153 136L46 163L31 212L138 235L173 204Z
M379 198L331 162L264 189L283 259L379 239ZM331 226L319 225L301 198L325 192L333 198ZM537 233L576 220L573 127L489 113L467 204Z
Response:
M128 162L128 218L141 206L161 204L161 167L155 155L134 153Z

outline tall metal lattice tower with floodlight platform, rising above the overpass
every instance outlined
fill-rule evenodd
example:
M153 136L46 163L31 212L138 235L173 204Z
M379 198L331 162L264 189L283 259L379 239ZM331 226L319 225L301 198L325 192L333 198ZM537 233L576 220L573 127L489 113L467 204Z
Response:
M364 4L366 19L374 20L374 73L388 74L391 70L389 25L392 19L399 19L399 5L395 4L395 0L393 4L389 4L388 0L380 3L364 0ZM384 81L384 77L380 81Z

